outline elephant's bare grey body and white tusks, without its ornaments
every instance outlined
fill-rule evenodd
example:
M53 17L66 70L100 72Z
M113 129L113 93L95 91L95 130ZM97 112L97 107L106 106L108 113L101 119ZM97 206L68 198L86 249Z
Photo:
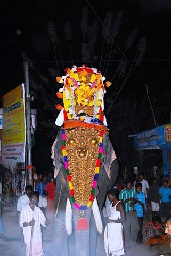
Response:
M75 130L78 129L68 129L68 132L74 133ZM69 191L67 173L64 168L65 162L62 155L62 141L62 130L60 130L52 147L56 178L56 221L53 236L54 255L72 255L70 253L75 250L73 255L95 256L97 231L100 234L103 233L101 212L105 202L106 192L113 187L118 176L116 155L109 141L108 134L104 133L102 139L103 154L94 199L88 209L80 211L74 207ZM86 218L88 222L88 228L85 230L78 228L80 212L81 217Z

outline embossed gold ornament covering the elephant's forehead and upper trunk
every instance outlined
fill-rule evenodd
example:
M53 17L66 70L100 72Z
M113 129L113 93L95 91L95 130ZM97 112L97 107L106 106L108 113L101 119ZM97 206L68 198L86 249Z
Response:
M99 138L100 133L95 129L78 127L66 130L68 169L78 205L87 205L91 196Z

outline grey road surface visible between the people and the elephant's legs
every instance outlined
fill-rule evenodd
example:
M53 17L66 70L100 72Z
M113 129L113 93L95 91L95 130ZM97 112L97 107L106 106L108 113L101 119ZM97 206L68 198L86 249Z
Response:
M3 213L4 229L5 233L0 235L0 255L1 256L24 256L25 247L21 247L19 225L17 223L17 212L4 212ZM43 231L44 239L50 237L48 229ZM43 242L45 256L51 256L52 242ZM153 256L155 255L152 251L149 251L145 244L133 247L127 251L127 256ZM61 256L61 255L56 255ZM67 256L67 255L66 255ZM75 256L70 253L70 256ZM81 255L80 255L81 256ZM106 256L103 245L103 235L99 235L97 242L96 256Z

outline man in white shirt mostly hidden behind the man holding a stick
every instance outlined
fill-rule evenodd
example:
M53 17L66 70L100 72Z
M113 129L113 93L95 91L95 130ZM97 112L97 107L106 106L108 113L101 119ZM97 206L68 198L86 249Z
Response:
M28 195L32 192L32 190L33 190L33 187L31 185L27 185L25 187L25 194L23 196L20 196L20 198L18 199L18 202L17 202L18 215L20 215L20 212L24 207L29 205L30 201L29 201ZM24 245L24 237L23 237L22 227L20 227L20 238L21 238L21 246L23 246Z

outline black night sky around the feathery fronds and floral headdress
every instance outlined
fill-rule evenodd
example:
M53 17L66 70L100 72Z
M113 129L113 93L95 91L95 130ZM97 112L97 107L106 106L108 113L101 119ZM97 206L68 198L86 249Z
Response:
M122 58L124 42L130 31L137 28L137 40L146 38L146 51L140 66L132 72L124 90L118 97L118 102L127 98L131 91L139 89L131 96L130 104L134 108L141 105L141 98L144 96L145 103L142 103L139 125L133 125L127 133L120 127L119 113L123 114L121 107L113 108L109 112L109 126L112 138L115 142L116 131L127 136L142 130L154 127L149 101L146 97L146 85L149 90L149 97L156 114L157 126L170 121L170 64L171 64L171 2L170 0L112 0L112 1L1 1L1 91L0 96L24 83L23 59L21 52L26 52L28 57L34 61L37 70L41 75L48 68L56 68L53 45L48 37L47 24L50 21L56 23L60 38L59 47L62 55L64 68L72 67L69 46L64 40L64 24L71 21L72 24L72 53L74 64L82 66L81 43L84 41L83 33L80 31L80 20L83 7L89 7L89 22L94 19L99 21L99 30L107 12L123 11L123 24L119 30L116 41L116 49L120 49L111 62L109 73L115 72L118 60ZM136 45L134 47L136 49ZM95 65L99 65L102 51L101 31L98 36L97 46L94 55L97 56ZM134 53L127 55L127 59L134 59ZM103 57L103 60L105 58ZM58 56L60 75L64 75L62 63ZM104 63L104 62L103 62ZM108 74L108 76L112 76ZM107 76L107 79L109 79ZM50 82L51 83L51 82ZM116 81L112 82L110 93L115 90ZM51 84L53 90L57 91L55 82ZM51 94L51 95L52 95ZM116 102L116 103L118 103ZM141 103L140 103L141 102ZM144 104L144 105L143 105ZM0 105L1 107L2 105ZM39 106L39 105L36 105ZM115 106L115 105L114 105ZM53 106L52 106L53 108ZM142 113L146 113L142 115ZM128 113L129 114L129 113ZM56 111L56 116L58 111ZM141 117L142 115L142 117ZM123 116L121 117L123 118ZM125 118L125 117L124 117ZM134 121L132 121L134 122ZM118 123L118 124L117 124ZM122 126L126 126L123 122ZM130 125L128 125L130 126ZM127 127L127 126L126 126ZM129 127L130 128L130 127ZM116 134L117 135L117 134ZM114 143L113 142L113 143Z

